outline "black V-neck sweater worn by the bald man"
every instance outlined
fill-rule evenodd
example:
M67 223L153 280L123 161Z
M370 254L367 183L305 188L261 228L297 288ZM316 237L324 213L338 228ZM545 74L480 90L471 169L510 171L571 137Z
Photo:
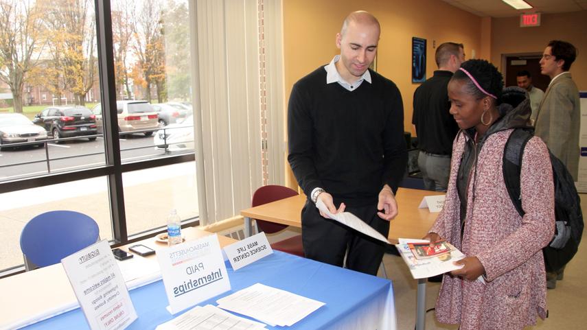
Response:
M321 187L336 207L362 207L377 204L384 184L398 189L407 163L402 95L370 73L355 91L326 84L324 67L293 86L288 161L306 196Z

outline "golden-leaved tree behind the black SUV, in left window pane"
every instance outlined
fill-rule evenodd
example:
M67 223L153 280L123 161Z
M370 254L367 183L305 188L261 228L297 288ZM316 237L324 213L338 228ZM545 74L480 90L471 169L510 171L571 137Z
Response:
M84 105L85 97L97 77L95 54L95 14L91 0L45 1L45 23L50 27L51 51L59 60L64 88L73 93L75 104Z

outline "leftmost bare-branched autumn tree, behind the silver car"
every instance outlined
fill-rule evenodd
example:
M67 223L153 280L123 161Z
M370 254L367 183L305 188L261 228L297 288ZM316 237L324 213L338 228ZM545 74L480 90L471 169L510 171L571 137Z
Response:
M41 12L32 1L0 0L0 80L8 84L15 113L23 112L23 88L43 49Z

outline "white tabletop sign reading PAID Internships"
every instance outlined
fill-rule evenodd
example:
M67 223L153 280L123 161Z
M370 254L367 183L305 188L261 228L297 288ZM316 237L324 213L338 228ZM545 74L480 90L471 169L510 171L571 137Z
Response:
M157 251L171 314L230 290L216 234Z

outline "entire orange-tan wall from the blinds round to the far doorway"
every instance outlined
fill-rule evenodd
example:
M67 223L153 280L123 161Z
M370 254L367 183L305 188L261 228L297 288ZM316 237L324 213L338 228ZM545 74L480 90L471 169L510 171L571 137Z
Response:
M542 52L551 39L567 40L579 49L571 68L573 79L579 90L587 91L587 11L543 14L542 26L521 28L519 17L481 18L439 0L365 0L361 5L349 0L284 0L286 100L297 80L340 54L334 38L354 10L367 10L381 23L377 71L398 85L404 129L412 134L413 93L419 86L411 82L413 36L427 40L426 78L437 69L433 43L463 43L467 59L485 58L500 68L502 54ZM286 185L297 187L287 162L286 172Z

